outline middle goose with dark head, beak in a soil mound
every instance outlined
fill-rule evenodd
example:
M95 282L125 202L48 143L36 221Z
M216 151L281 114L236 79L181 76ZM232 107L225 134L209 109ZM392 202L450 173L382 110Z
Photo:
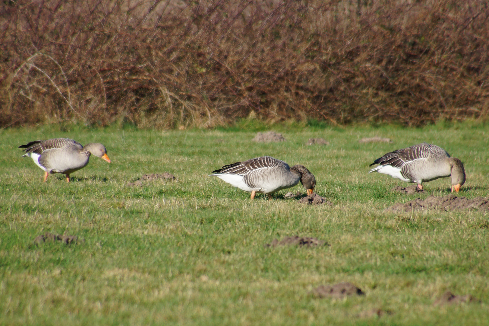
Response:
M266 193L270 200L273 193L293 187L299 181L308 195L316 186L314 175L304 165L290 167L284 161L270 156L227 164L212 173L210 176L216 176L228 184L251 192L251 199L255 198L257 192L261 192Z

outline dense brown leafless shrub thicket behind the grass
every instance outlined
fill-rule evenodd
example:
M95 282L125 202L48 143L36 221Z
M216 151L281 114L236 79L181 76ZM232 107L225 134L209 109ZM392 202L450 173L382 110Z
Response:
M0 126L485 117L488 15L477 0L7 0Z

